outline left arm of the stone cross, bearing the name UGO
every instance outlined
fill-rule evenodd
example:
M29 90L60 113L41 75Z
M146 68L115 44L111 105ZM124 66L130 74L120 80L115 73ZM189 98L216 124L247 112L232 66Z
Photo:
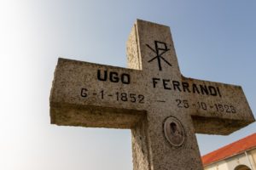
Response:
M141 71L59 59L50 94L51 123L131 128L145 116ZM140 86L136 86L136 84Z

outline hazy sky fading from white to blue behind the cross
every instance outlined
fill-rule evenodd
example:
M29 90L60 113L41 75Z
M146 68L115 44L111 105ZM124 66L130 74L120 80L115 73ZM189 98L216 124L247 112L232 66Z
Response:
M137 19L171 27L183 76L241 85L256 116L253 0L1 0L0 169L131 170L131 131L49 122L58 57L126 67ZM256 132L196 134L201 155Z

